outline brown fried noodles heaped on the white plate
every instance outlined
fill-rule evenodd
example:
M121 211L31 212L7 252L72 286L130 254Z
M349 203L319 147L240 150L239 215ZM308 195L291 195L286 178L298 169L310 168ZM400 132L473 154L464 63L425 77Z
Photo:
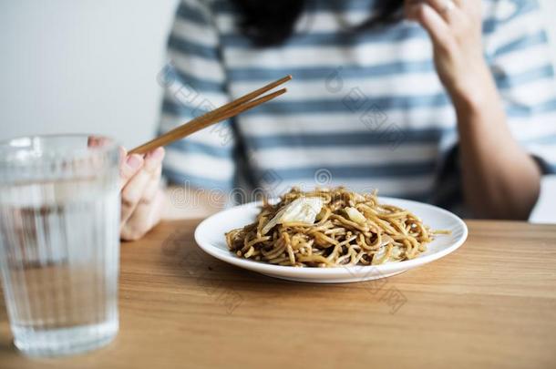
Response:
M263 231L280 210L300 198L322 199L314 223L283 222ZM263 200L256 220L227 232L226 241L230 251L245 259L337 267L414 259L439 233L446 232L431 231L408 210L379 203L376 191L358 194L343 187L310 192L293 188L277 204Z

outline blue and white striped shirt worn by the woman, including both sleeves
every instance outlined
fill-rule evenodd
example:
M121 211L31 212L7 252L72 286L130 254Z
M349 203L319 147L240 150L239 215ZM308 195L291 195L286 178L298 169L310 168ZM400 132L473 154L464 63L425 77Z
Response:
M206 190L342 184L457 207L457 121L431 42L406 21L353 32L372 2L310 0L293 36L260 49L240 33L230 2L182 0L160 75L160 133L274 79L293 80L282 97L170 145L165 175ZM539 6L483 6L484 53L510 128L554 172L556 84Z

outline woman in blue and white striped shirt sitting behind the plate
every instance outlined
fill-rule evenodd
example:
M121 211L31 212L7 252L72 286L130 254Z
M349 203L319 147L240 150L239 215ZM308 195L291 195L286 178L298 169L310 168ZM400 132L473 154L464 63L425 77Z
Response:
M283 97L170 145L164 172L204 193L343 184L527 219L541 175L556 169L539 13L534 0L182 0L160 76L161 132L293 81Z

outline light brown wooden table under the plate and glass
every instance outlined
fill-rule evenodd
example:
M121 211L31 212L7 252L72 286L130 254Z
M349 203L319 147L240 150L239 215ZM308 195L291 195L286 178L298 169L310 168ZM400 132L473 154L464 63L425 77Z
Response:
M91 354L0 368L556 367L556 226L468 221L448 257L383 282L275 280L211 258L197 221L121 250L120 332Z

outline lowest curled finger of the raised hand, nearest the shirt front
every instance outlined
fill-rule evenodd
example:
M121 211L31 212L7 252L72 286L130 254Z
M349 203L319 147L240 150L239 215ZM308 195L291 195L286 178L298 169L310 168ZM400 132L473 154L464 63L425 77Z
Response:
M435 46L448 48L452 42L449 26L430 5L412 5L407 10L407 17L416 20L426 30Z

